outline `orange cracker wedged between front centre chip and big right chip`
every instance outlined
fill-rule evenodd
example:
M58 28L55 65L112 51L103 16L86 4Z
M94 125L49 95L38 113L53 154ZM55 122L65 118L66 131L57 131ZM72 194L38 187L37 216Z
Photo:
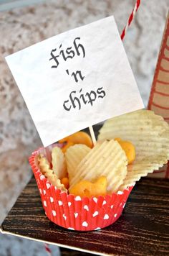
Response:
M122 150L125 151L125 155L127 156L128 164L132 163L135 160L135 147L131 142L127 142L125 140L120 140L120 138L115 138L117 142L122 147Z

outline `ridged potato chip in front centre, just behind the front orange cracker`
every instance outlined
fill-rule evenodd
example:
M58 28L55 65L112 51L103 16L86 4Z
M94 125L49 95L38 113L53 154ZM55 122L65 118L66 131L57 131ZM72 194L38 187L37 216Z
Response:
M117 191L127 174L127 157L115 140L97 142L75 169L70 189L80 180L107 178L107 192Z

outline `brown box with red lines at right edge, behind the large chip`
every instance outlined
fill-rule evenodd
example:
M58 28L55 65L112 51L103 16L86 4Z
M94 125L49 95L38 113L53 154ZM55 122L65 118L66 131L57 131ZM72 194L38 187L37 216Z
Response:
M148 109L163 116L169 123L169 12L155 68ZM169 163L150 176L169 178Z

